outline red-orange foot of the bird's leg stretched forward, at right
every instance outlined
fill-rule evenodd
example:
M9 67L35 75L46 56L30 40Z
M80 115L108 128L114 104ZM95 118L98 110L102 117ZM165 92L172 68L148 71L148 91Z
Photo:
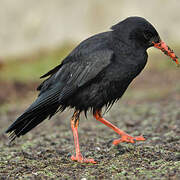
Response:
M120 139L115 139L113 141L113 144L118 145L121 142L135 143L136 141L145 141L145 140L146 139L143 136L132 137L132 136L130 136L128 134L124 134L124 135L121 136Z

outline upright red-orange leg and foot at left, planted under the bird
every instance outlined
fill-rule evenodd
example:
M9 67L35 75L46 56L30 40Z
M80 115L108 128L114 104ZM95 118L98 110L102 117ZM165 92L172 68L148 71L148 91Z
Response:
M78 161L80 163L96 163L94 159L85 159L79 148L79 137L78 137L78 124L79 124L79 111L75 111L74 115L71 119L71 128L73 131L73 136L74 136L74 145L75 145L75 150L76 150L76 156L72 155L71 159L73 161Z

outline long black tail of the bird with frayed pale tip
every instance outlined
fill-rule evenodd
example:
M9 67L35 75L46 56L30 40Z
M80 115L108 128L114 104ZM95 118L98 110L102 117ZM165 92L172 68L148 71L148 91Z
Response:
M46 118L51 118L59 109L57 97L50 97L43 100L41 97L20 116L5 131L9 134L10 142L16 137L26 134Z

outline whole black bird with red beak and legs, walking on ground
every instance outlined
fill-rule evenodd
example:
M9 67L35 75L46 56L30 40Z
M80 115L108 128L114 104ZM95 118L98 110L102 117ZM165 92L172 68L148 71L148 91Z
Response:
M97 121L120 135L113 141L114 145L145 141L142 135L130 136L105 120L102 108L109 110L122 97L144 69L150 47L160 49L179 66L173 50L143 17L127 17L108 31L82 41L58 66L40 77L46 79L37 88L37 99L5 131L10 142L66 108L74 109L70 122L75 144L73 161L97 163L83 157L80 151L78 125L83 112L86 115L90 111Z

